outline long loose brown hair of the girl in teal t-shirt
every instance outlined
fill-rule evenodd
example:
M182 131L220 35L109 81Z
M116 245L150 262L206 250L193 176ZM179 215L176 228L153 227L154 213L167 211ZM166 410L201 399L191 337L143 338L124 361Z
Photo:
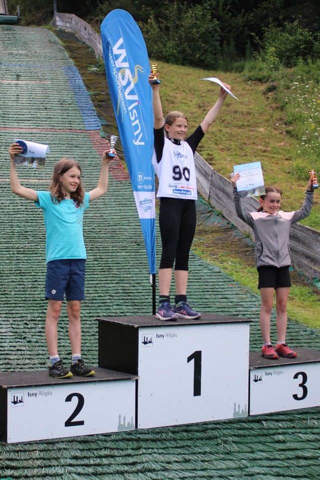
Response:
M60 201L65 198L65 193L61 188L60 176L63 175L63 173L65 173L66 171L70 170L70 168L72 168L73 166L75 166L81 174L81 167L75 160L71 160L70 158L61 158L61 160L56 162L53 168L51 183L49 186L51 198L54 203L60 203ZM77 206L80 206L83 203L84 190L81 178L77 189L70 193L70 197L77 204Z

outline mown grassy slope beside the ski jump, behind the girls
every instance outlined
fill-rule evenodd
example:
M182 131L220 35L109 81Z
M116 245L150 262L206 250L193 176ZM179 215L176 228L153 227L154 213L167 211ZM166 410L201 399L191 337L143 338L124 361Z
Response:
M300 208L308 181L301 182L289 173L290 162L297 156L297 141L284 133L285 118L263 94L264 85L247 83L242 74L199 70L159 62L163 114L172 109L186 113L190 130L203 119L214 104L218 85L201 80L216 76L231 85L239 101L227 98L215 123L198 148L199 153L220 174L229 178L234 164L260 160L266 184L282 188L282 207ZM320 203L314 194L310 216L301 223L320 230ZM258 293L256 270L241 260L236 252L216 252L213 256L201 252L208 261L221 267L231 277ZM320 302L315 287L293 285L290 291L288 314L292 320L311 327L320 327Z

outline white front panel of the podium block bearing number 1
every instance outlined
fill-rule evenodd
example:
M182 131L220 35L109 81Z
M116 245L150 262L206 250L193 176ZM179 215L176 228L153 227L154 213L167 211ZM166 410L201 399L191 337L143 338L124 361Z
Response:
M223 352L225 337L247 345L236 362ZM141 327L138 428L232 418L234 405L246 416L248 338L243 323Z

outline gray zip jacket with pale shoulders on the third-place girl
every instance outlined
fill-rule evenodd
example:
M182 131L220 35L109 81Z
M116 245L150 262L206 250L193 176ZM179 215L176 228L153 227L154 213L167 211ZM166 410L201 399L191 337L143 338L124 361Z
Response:
M253 229L256 267L289 266L291 264L290 226L309 215L313 202L313 190L305 192L304 202L300 210L279 210L274 214L266 211L249 212L244 210L236 188L233 188L233 200L237 216Z

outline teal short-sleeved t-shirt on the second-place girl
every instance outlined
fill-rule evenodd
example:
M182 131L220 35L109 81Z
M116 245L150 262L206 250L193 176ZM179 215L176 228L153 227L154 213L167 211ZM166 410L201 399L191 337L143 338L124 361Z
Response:
M89 206L89 193L84 194L83 205L64 198L54 203L49 191L38 190L35 206L43 210L46 231L46 262L66 258L86 258L83 240L83 213Z

